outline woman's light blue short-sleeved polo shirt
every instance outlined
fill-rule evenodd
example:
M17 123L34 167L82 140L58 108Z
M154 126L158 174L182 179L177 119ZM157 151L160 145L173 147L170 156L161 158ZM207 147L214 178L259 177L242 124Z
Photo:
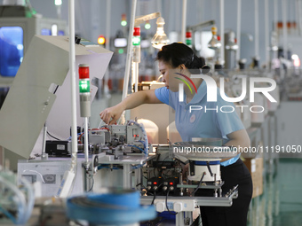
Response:
M192 137L211 137L223 138L223 144L226 144L229 140L227 134L244 129L235 110L232 112L233 108L230 106L234 107L234 104L222 99L219 89L217 102L207 101L207 86L204 81L189 103L179 102L179 92L172 92L166 87L156 89L155 96L175 110L176 128L183 141L191 141ZM186 99L184 94L184 100ZM221 165L230 165L238 160L239 156L222 162Z

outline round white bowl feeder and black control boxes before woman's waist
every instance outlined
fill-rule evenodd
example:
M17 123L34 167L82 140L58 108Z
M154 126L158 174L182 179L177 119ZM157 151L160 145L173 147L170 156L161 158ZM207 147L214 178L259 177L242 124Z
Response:
M234 157L237 152L211 143L203 140L155 145L155 155L143 169L147 184L141 185L146 192L142 200L154 203L158 212L190 212L196 206L232 205L237 190L234 187L232 191L222 191L219 160ZM195 196L200 189L212 190L212 197Z

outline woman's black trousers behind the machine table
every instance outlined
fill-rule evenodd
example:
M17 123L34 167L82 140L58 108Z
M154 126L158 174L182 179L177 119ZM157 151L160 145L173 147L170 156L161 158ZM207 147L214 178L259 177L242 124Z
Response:
M238 198L233 199L231 207L201 207L203 226L246 226L252 195L252 182L249 169L239 159L230 166L221 166L221 179L225 182L222 186L224 193L235 185L239 185ZM195 195L212 196L213 191L201 191L200 189L196 191Z

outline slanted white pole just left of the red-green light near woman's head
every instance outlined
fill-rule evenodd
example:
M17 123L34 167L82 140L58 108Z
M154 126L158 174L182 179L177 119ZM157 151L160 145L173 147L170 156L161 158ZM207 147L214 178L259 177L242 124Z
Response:
M132 0L131 5L131 19L129 27L129 36L128 36L128 47L127 47L127 58L126 58L126 68L123 77L123 97L122 100L128 95L128 85L129 85L129 76L131 69L131 52L132 52L132 36L134 30L134 20L135 20L135 11L136 11L137 0Z

